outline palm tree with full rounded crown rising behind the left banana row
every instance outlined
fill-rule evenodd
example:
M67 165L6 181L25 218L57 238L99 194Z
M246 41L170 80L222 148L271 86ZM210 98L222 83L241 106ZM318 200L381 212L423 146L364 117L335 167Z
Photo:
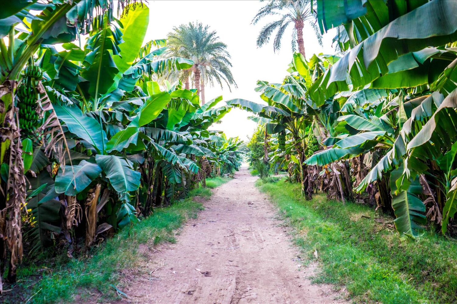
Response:
M185 88L189 88L189 79L193 78L194 88L197 88L205 103L205 84L212 87L217 82L221 88L223 83L237 87L230 68L230 54L227 45L219 41L216 31L210 31L209 26L202 23L189 22L174 27L168 34L167 46L170 56L185 57L193 60L191 69L182 71L179 75L184 81Z

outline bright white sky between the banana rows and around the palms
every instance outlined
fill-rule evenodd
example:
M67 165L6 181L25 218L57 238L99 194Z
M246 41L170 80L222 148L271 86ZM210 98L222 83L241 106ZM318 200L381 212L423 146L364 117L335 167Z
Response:
M251 24L260 7L266 3L256 0L149 0L149 28L146 33L147 41L163 39L173 29L182 23L190 21L202 22L215 30L220 40L228 45L228 52L232 57L233 75L238 88L221 90L220 87L205 88L205 99L208 101L219 95L223 100L243 98L261 103L259 93L254 91L257 80L281 82L287 75L287 65L292 61L291 35L292 25L284 33L280 52L273 52L272 42L262 48L257 48L255 41L260 29L274 17L266 17L255 26ZM277 17L276 17L277 18ZM303 39L305 41L306 57L309 59L314 53L323 52L333 54L331 46L334 32L324 35L324 47L314 35L314 30L305 24ZM271 41L273 41L273 38ZM221 102L223 105L224 102ZM254 129L255 123L247 117L250 114L239 109L232 109L221 120L221 124L214 124L210 129L222 130L228 137L239 136L246 140Z

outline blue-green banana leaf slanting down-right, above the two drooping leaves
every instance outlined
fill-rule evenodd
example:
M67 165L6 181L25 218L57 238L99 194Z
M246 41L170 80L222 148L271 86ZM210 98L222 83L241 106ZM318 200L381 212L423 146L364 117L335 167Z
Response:
M105 151L106 133L96 119L84 115L76 105L53 104L58 119L64 121L69 131L91 144L97 153Z

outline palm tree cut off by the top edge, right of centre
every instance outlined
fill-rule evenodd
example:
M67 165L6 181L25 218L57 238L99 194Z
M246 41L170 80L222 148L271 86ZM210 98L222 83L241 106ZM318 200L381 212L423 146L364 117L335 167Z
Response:
M263 0L260 0L263 2ZM262 28L257 37L257 46L263 46L277 29L275 40L273 41L273 50L279 51L281 48L281 40L286 31L287 26L294 24L292 32L292 50L297 50L305 56L305 46L303 42L303 26L305 21L313 27L314 32L318 38L319 44L322 45L322 35L319 31L317 24L313 21L316 20L317 12L313 9L313 1L311 0L270 0L268 4L263 6L255 15L252 23L255 25L260 19L268 15L278 15L280 19L268 23Z

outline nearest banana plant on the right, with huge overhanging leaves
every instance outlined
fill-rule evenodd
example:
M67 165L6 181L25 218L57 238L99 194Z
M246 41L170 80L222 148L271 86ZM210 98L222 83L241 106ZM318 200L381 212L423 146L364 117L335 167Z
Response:
M365 1L362 5L361 1L353 1L351 7L318 2L322 30L343 24L340 31L344 35L339 35L342 37L339 42L349 52L307 91L316 105L324 104L327 98L338 100L340 105L344 102L334 128L336 134L326 142L332 148L314 155L308 164L330 163L367 153L372 168L357 190L362 191L377 180L387 180L397 216L395 223L402 238L420 236L421 229L416 223L423 223L421 212L425 207L424 203L418 203L421 198L426 197L427 215L437 222L441 221L444 201L449 202L443 216L445 224L454 214L451 190L454 114L450 108L452 98L448 98L455 89L451 79L455 77L452 72L456 54L445 44L456 39L457 27L453 21L425 26L424 14L441 20L443 14L452 14L456 9L451 1L409 1L405 6L397 3L388 6L381 1ZM391 52L392 49L396 52ZM398 88L401 90L392 91ZM348 89L355 93L343 92ZM385 91L374 91L378 89ZM359 97L363 103L358 101ZM441 110L445 97L447 105ZM425 128L433 124L429 121L436 116L447 121L449 136L434 133L443 130ZM428 141L423 140L426 132ZM373 163L374 155L379 154L381 159ZM398 175L400 167L403 174ZM412 186L417 186L418 181L424 191Z

